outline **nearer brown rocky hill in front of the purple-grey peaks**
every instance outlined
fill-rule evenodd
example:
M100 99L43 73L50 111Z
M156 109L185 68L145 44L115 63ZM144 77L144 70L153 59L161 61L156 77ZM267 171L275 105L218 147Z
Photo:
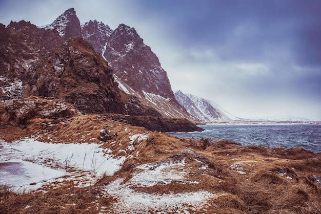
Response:
M82 38L38 62L29 79L30 95L61 98L84 113L125 112L111 67Z

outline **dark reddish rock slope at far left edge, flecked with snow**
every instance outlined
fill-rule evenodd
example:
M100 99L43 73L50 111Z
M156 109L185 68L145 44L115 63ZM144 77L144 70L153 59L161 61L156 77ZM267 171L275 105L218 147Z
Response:
M26 90L26 76L35 63L61 45L56 30L39 29L30 22L11 22L0 33L0 100L19 99Z

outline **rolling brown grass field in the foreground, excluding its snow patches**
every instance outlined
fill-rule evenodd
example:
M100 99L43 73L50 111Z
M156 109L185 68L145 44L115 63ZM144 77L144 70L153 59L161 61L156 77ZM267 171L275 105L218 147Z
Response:
M102 115L32 119L29 123L24 130L2 129L0 138L10 142L34 136L52 143L98 143L110 148L115 157L127 159L113 176L102 175L88 187L75 187L69 181L46 191L14 192L8 185L0 186L0 213L117 213L113 205L121 198L105 190L117 179L150 196L200 191L215 196L199 209L187 208L189 213L321 213L320 153L242 146L231 140L178 139ZM106 142L98 139L102 130L110 136ZM145 137L130 139L139 134ZM182 161L184 165L179 165ZM168 172L183 179L134 185L135 176L143 172L139 166L144 164L154 168L167 164L172 167ZM157 212L177 213L155 207L141 213Z

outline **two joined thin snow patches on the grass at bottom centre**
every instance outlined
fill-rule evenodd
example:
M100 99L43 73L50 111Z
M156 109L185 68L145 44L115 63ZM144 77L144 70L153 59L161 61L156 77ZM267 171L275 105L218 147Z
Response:
M184 172L184 166L184 160L156 162L137 166L132 178L126 183L123 183L123 179L117 179L105 187L104 191L106 191L106 194L117 199L117 202L108 211L117 211L118 213L147 213L156 211L158 213L189 213L190 209L194 211L204 209L206 212L208 200L218 197L211 192L195 191L161 195L156 192L154 194L139 192L135 188L157 184L167 185L177 180L184 180L185 175L187 175Z

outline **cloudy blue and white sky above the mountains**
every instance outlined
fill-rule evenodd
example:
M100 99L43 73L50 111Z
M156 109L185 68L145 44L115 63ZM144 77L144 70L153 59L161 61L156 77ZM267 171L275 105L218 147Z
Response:
M173 91L242 118L321 121L319 0L0 1L0 23L50 24L68 8L82 22L134 27Z

